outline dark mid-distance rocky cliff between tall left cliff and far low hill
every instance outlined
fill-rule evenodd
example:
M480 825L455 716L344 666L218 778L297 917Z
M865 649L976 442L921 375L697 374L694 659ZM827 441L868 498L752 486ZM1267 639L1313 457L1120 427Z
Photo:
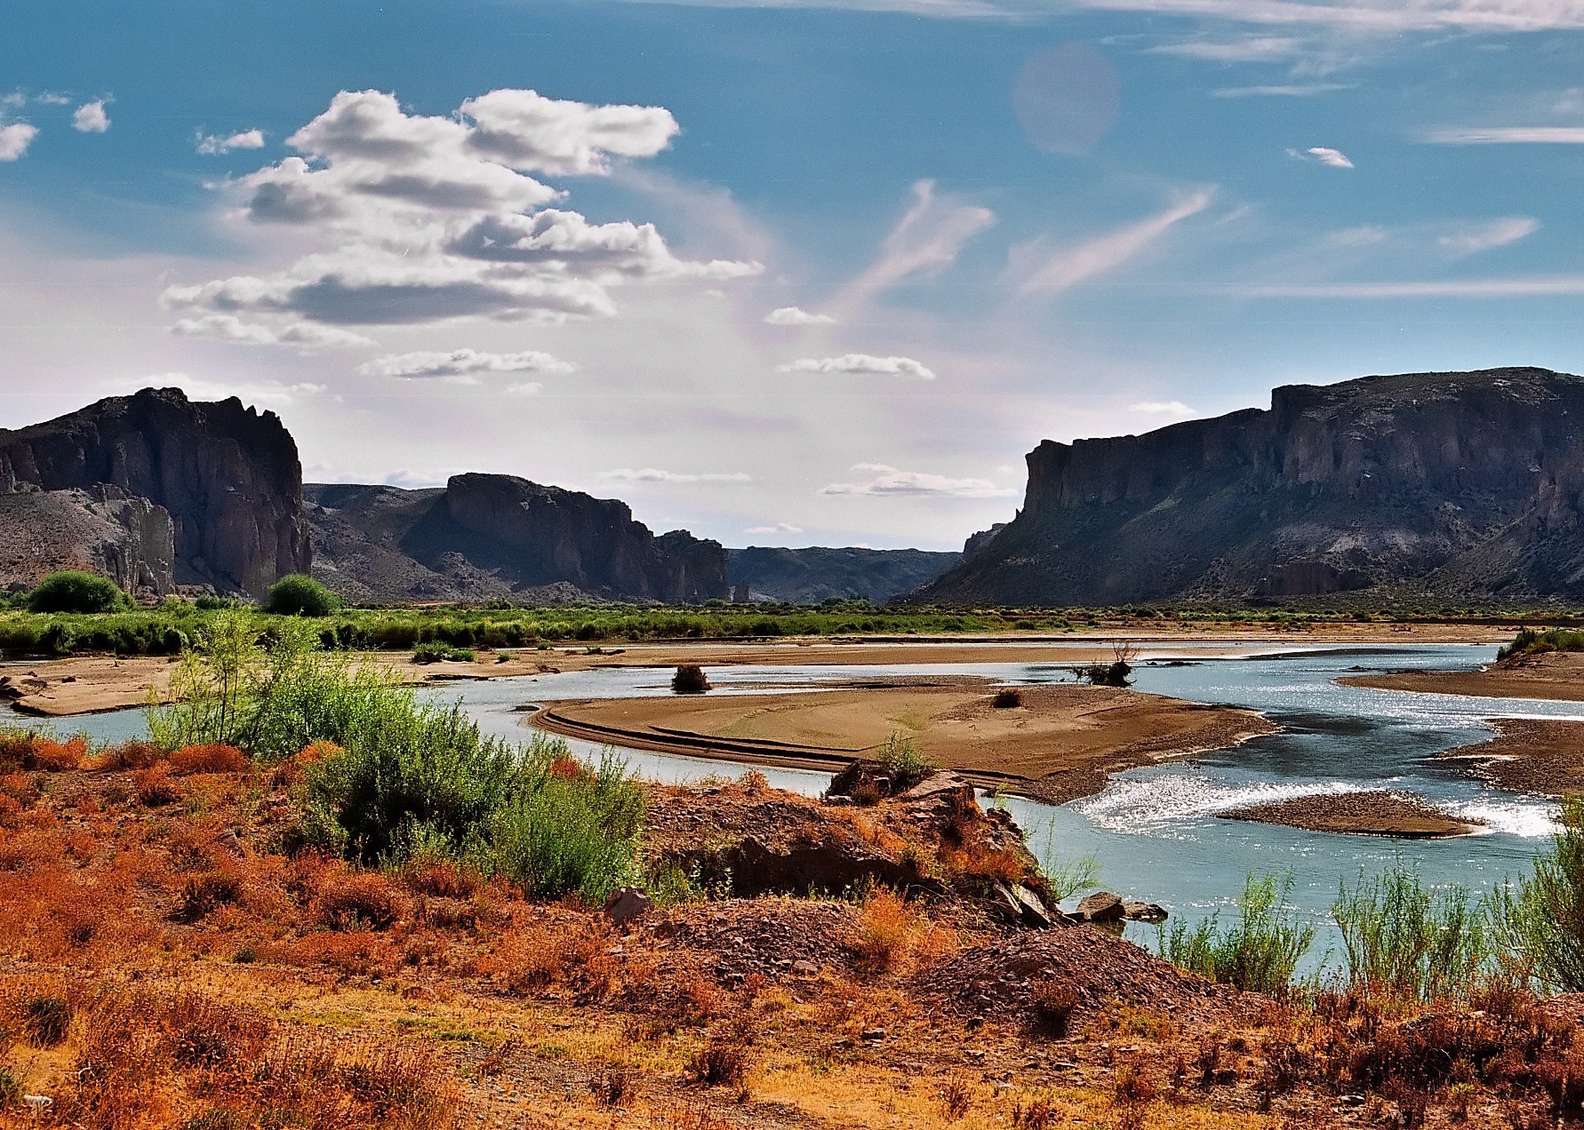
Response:
M445 487L310 484L315 576L355 600L700 601L727 595L725 551L656 537L626 503L512 475Z

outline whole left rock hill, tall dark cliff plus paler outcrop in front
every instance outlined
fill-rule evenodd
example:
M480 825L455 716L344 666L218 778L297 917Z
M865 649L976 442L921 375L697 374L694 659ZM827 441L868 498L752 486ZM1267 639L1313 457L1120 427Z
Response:
M108 397L0 430L0 579L76 565L128 589L260 595L309 567L301 491L296 443L272 411L176 388Z

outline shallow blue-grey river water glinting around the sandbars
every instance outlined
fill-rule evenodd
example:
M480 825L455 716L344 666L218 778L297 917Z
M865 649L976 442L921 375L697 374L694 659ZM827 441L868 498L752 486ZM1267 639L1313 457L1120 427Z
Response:
M1061 807L1007 798L1006 806L1047 863L1083 855L1099 859L1101 885L1128 897L1158 902L1177 918L1196 920L1224 907L1250 870L1291 870L1294 902L1319 926L1315 957L1335 945L1326 910L1337 885L1394 858L1416 861L1429 883L1459 882L1476 891L1525 870L1551 831L1551 806L1470 779L1457 761L1435 753L1489 736L1492 717L1584 720L1584 703L1415 695L1343 687L1343 674L1397 668L1472 669L1489 663L1495 647L1389 646L1288 649L1239 658L1155 660L1136 674L1139 690L1199 703L1262 711L1283 731L1237 749L1182 758L1118 774L1104 791ZM982 674L1001 682L1071 681L1061 652L1052 663L955 663L892 666L729 666L706 668L713 693L806 692L811 684L895 674ZM493 682L464 682L431 693L459 698L489 733L520 739L529 703L564 698L667 695L670 671L610 668ZM87 731L97 741L143 733L138 711L67 719L60 730ZM597 747L573 742L583 753ZM721 761L630 750L643 775L681 782L710 774L738 774ZM794 769L765 769L782 788L817 793L828 777ZM1307 832L1274 825L1220 820L1215 813L1243 804L1357 788L1400 788L1434 804L1484 820L1491 831L1448 840L1389 840ZM1129 927L1139 940L1153 931Z

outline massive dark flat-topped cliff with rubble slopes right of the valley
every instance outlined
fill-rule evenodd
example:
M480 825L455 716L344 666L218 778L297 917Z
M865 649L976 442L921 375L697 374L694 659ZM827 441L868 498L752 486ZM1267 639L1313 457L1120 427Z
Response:
M1022 513L920 600L1112 605L1392 584L1584 595L1584 378L1365 377L1028 454Z

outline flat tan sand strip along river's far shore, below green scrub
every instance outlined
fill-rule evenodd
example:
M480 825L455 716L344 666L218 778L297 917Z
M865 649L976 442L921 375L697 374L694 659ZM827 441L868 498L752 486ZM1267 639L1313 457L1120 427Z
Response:
M496 679L515 674L588 671L604 666L705 666L768 665L885 665L885 663L1093 663L1112 660L1112 641L1137 646L1137 658L1161 657L1223 658L1258 654L1261 647L1307 644L1402 644L1402 643L1498 643L1511 638L1505 628L1478 625L1392 625L1326 624L1305 630L1277 628L1148 628L1120 627L1061 636L939 636L920 639L782 639L775 643L659 643L610 647L554 647L512 650L497 663L493 652L480 652L475 663L413 665L404 652L377 655L413 684L447 679ZM1191 650L1182 644L1196 644ZM1205 644L1215 644L1207 647ZM51 717L97 714L143 706L150 687L165 687L171 660L166 657L114 658L90 655L40 660L0 666L13 682L33 679L17 698L19 711ZM1581 693L1584 696L1584 693Z

